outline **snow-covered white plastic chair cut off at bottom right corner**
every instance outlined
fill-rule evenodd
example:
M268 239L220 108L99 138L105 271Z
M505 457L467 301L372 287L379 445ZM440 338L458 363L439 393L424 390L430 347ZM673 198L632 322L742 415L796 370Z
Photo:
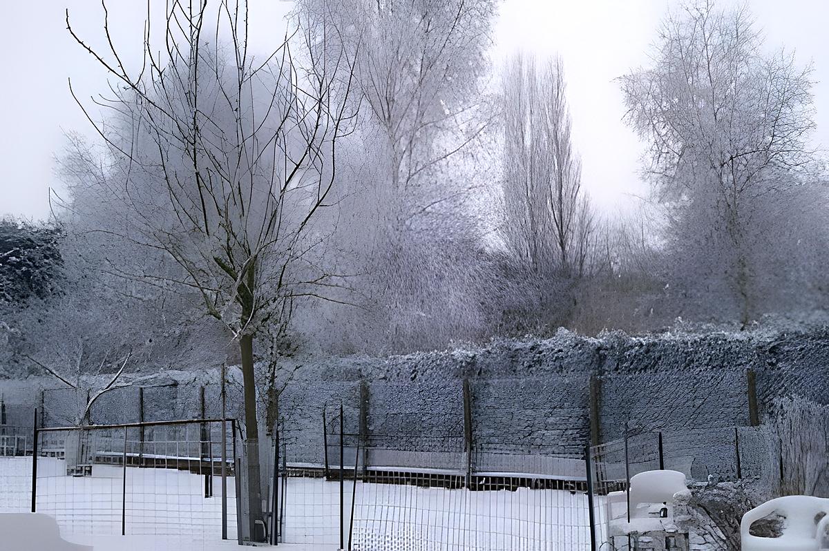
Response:
M751 525L769 515L785 518L778 538L749 533ZM739 524L742 551L821 551L817 539L818 515L829 514L829 499L811 495L787 495L766 501L743 515ZM823 521L820 521L823 528Z

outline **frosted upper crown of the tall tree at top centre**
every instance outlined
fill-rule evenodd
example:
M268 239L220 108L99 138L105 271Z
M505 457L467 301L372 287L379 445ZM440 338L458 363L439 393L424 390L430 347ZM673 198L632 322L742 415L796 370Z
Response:
M366 104L361 116L380 129L390 198L414 194L425 183L419 176L484 128L475 115L494 6L492 0L300 2L309 19L336 31L333 40L355 60L356 99Z

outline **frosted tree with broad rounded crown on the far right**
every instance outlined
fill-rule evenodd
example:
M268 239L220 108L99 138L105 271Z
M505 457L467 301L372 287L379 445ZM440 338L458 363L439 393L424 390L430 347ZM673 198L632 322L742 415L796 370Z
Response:
M714 256L728 274L743 326L759 202L790 186L781 175L811 157L811 75L791 54L764 53L746 7L705 0L668 17L652 65L620 79L628 121L650 145L659 198L679 210L680 235L699 235L695 259Z

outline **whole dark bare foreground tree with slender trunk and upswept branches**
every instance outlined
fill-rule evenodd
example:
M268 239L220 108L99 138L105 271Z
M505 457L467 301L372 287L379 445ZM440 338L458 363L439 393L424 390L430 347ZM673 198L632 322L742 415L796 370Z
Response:
M96 123L79 101L109 155L86 185L114 217L97 231L172 261L172 268L124 268L124 276L195 291L239 343L255 538L262 501L254 336L285 317L293 300L325 298L342 285L318 257L325 234L314 221L329 206L336 145L349 131L351 62L342 48L320 56L326 35L308 27L255 58L246 2L211 11L203 1L174 0L162 17L160 53L148 9L143 65L130 71L113 46L105 5L109 51L88 46L67 12L71 36L111 77L111 96L96 100L112 109L108 122ZM293 41L303 45L303 66Z

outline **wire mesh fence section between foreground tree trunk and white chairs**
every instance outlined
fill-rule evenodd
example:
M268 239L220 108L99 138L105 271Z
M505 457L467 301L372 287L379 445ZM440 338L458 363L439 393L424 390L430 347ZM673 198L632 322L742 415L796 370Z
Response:
M356 551L590 549L583 460L475 449L452 434L351 432L360 423L332 409L322 464L292 461L293 442L282 442L280 542Z

